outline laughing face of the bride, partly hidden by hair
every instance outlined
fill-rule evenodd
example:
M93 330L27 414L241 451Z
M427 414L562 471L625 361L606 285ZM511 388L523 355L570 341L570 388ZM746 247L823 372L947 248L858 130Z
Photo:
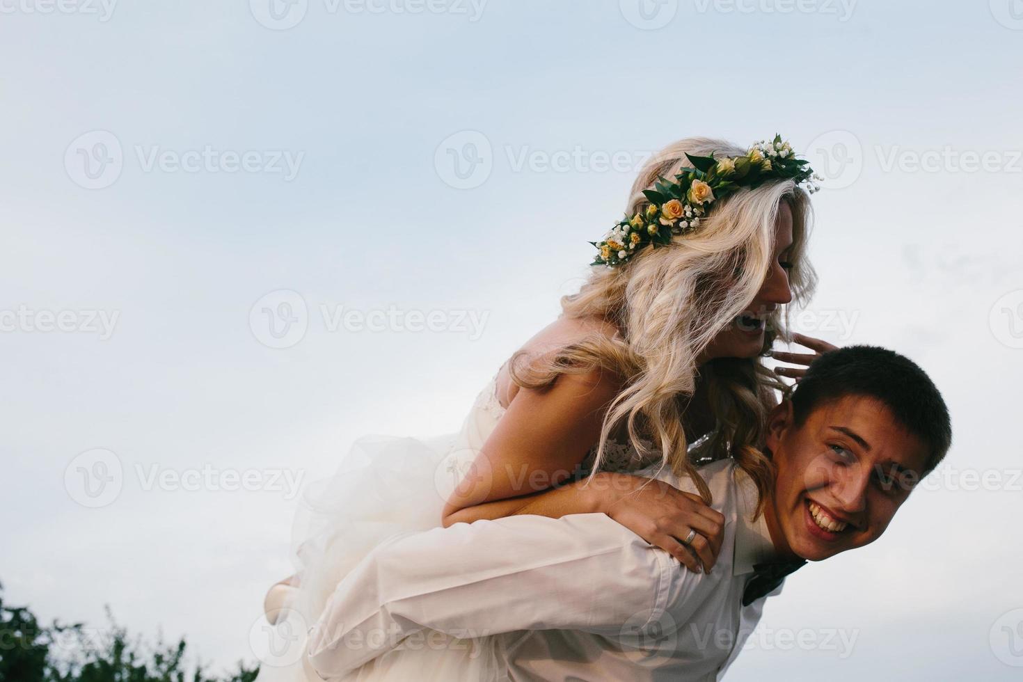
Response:
M760 290L745 314L735 318L707 346L700 356L700 364L714 358L755 358L760 355L767 316L779 306L792 301L792 289L789 287L792 224L792 209L788 201L782 201L774 221L774 257Z

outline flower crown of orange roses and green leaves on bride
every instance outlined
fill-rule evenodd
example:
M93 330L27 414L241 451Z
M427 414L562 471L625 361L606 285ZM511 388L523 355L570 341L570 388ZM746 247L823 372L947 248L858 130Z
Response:
M740 187L753 189L770 180L795 180L812 194L820 189L814 181L822 180L813 173L809 162L796 158L792 145L781 135L770 142L755 142L742 156L715 158L711 153L685 157L693 168L681 169L675 182L658 176L655 189L643 190L650 200L646 211L632 218L626 214L604 241L589 242L601 252L590 265L622 265L647 244L665 245L671 243L672 235L692 233L714 201Z

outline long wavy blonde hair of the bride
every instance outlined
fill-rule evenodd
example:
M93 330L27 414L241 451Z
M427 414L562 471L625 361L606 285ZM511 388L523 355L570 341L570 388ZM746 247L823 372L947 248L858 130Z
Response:
M685 153L737 156L746 149L723 140L692 137L668 145L640 171L626 215L641 212L658 176L669 180L690 167ZM793 246L789 284L793 303L804 305L813 294L816 275L806 257L812 222L809 197L791 180L743 188L715 201L700 228L675 236L664 246L648 246L617 268L594 266L574 294L563 297L562 315L599 316L613 322L613 337L594 333L540 359L516 353L509 364L520 387L544 389L561 374L607 369L625 379L624 390L612 401L601 430L592 471L606 457L611 434L624 423L633 447L650 456L651 443L662 453L662 465L679 476L690 476L701 497L712 502L706 482L687 456L683 414L702 410L716 424L699 448L704 457L730 456L756 484L760 493L756 513L769 497L773 467L761 451L766 413L774 404L773 391L782 383L757 358L718 358L697 366L711 340L725 331L748 309L772 267L774 223L782 201L793 217ZM791 340L788 308L767 321L761 356L775 337ZM528 362L523 362L528 360ZM534 362L534 360L538 360ZM700 387L700 405L694 401ZM647 440L648 442L644 442Z

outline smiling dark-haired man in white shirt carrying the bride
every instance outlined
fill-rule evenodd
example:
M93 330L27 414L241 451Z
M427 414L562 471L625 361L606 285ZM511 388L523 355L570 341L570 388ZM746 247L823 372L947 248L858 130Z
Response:
M429 632L452 647L495 636L500 672L516 681L720 678L785 575L877 540L951 442L927 374L868 346L818 358L767 426L775 471L762 514L735 460L700 469L726 519L711 573L684 570L599 513L398 536L339 585L309 664L339 679ZM655 469L636 473L695 490Z

